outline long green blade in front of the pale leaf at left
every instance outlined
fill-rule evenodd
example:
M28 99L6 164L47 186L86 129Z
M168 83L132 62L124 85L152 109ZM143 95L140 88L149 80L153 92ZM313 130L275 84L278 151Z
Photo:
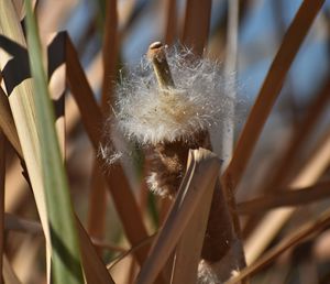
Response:
M52 241L54 283L82 283L80 251L64 163L55 131L54 109L43 68L41 43L31 1L25 1L29 59L34 79L36 127Z

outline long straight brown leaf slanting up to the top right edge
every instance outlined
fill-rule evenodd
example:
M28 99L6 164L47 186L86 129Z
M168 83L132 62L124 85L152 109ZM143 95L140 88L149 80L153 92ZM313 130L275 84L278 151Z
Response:
M232 160L222 175L222 184L232 192L235 190L243 176L263 125L280 91L285 76L323 2L324 0L305 0L284 35L280 47L242 130Z

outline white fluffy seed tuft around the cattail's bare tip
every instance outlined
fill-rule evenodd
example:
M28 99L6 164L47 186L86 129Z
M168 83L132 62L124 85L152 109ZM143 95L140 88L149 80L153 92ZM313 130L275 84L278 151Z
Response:
M194 58L185 48L166 48L166 56L175 89L160 89L146 57L117 87L117 127L141 144L189 140L232 116L217 63Z

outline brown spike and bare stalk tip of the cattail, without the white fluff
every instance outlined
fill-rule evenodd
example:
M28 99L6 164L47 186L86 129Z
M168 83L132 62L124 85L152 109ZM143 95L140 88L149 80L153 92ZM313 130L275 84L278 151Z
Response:
M166 61L166 54L162 43L156 42L151 44L147 56L153 64L156 79L160 86L160 94L164 99L172 99L170 96L176 96L174 89L175 84L170 75L169 66ZM172 91L173 90L173 91ZM178 117L180 113L176 113ZM151 145L151 151L146 153L146 159L151 161L152 188L163 197L173 198L186 172L187 159L189 149L208 149L211 150L209 133L207 130L197 130L191 132L190 139L178 138L175 141L162 141ZM228 208L227 198L222 193L220 182L216 182L215 193L212 196L207 231L204 240L201 259L212 263L220 262L226 255L231 253L232 247L237 245L238 236L234 233L233 220ZM240 269L244 265L244 256L232 254L227 259L226 275L221 272L218 275L222 281L226 281L232 270Z

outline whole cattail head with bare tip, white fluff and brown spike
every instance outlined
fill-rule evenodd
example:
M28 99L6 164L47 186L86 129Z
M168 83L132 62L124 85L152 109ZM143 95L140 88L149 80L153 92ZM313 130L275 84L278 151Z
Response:
M112 124L145 150L147 184L161 197L175 197L189 149L212 150L209 131L231 116L228 106L233 101L223 94L220 74L219 65L185 47L170 50L155 42L139 69L131 70L117 88ZM201 277L211 277L208 263L223 259L235 241L232 217L217 182L201 252ZM232 259L221 281L244 263Z

